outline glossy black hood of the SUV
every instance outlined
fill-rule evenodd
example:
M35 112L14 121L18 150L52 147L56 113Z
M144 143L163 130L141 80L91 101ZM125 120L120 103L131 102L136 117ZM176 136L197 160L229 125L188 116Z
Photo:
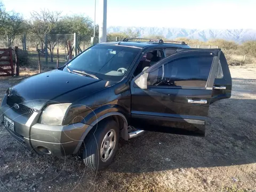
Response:
M7 91L7 97L15 103L41 110L50 102L72 103L104 89L106 83L56 69L23 79Z

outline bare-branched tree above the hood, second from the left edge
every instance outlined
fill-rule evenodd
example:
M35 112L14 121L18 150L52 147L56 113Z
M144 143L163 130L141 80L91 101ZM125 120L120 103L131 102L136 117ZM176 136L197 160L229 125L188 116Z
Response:
M45 43L45 36L47 35L47 49L51 54L51 61L53 62L53 50L58 43L58 36L61 34L58 22L60 20L61 12L41 10L41 12L33 11L31 13L30 30L37 38Z

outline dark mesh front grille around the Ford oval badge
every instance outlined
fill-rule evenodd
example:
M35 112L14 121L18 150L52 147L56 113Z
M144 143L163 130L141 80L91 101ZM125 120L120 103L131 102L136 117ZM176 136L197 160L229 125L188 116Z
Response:
M32 108L30 108L30 107L27 107L27 106L25 106L25 105L23 105L23 104L21 104L21 103L15 101L15 100L12 99L12 98L9 98L9 97L7 97L6 103L7 103L7 105L8 105L9 107L12 108L12 110L14 110L14 111L16 111L18 114L21 114L21 115L23 115L23 116L25 116L25 117L28 117L28 118L31 117L31 115L36 111L35 109L32 109ZM15 104L15 103L17 103L17 104L19 105L19 108L18 108L18 109L14 108L14 104Z

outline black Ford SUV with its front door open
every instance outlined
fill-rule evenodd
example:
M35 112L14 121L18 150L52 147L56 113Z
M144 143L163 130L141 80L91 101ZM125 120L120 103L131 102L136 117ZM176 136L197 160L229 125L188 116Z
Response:
M204 135L211 103L230 98L220 49L128 39L89 47L65 66L6 91L6 129L39 154L82 151L95 170L113 161L119 138L143 131Z

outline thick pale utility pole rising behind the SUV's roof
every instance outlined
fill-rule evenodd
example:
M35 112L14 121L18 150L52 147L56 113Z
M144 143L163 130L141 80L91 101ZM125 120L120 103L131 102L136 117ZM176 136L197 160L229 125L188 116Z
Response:
M107 0L100 0L99 43L107 42Z

